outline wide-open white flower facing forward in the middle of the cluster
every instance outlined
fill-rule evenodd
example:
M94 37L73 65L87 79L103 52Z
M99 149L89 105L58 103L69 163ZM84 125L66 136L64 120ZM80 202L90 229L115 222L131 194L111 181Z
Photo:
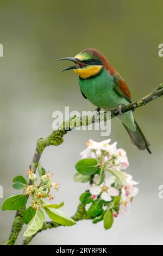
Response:
M106 178L101 185L97 186L99 183L99 175L96 174L93 179L94 183L89 188L90 193L95 196L100 195L106 202L111 201L111 197L117 197L119 195L119 191L116 190L116 188L111 187L111 185L114 184L115 179L115 176L110 176L109 178Z

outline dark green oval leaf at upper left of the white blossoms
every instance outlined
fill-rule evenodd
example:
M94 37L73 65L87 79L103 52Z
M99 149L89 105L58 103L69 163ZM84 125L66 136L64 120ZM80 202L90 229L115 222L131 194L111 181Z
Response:
M99 172L96 159L82 159L76 164L77 172L83 175L92 175Z

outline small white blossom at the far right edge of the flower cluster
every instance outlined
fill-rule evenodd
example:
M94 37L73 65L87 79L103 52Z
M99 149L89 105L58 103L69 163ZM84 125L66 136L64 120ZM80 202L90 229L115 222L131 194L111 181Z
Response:
M126 196L128 196L130 199L139 193L139 188L134 187L134 185L137 184L139 184L139 182L134 181L133 177L127 174L127 184L124 186L124 191L126 192Z

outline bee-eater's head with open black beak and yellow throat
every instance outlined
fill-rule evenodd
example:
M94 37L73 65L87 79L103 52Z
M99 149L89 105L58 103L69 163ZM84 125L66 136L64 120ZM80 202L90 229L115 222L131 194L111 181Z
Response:
M61 58L60 60L71 60L76 64L60 72L73 69L82 79L98 75L103 68L109 65L105 56L93 48L87 48L78 53L75 57Z

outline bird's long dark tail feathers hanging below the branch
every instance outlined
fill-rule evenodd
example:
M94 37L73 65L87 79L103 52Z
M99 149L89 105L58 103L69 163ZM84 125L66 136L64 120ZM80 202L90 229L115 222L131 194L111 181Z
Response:
M136 123L135 121L135 124L136 124L136 131L131 131L129 129L129 127L127 127L126 125L124 125L124 127L126 128L129 136L130 136L130 139L131 139L131 142L136 145L136 147L140 150L145 150L147 149L149 154L152 154L151 153L151 150L149 149L149 142L147 141L146 137L143 135L139 125Z

